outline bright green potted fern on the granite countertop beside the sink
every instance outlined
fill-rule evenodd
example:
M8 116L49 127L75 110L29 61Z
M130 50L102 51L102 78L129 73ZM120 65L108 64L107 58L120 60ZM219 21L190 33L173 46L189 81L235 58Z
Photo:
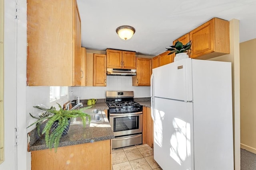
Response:
M83 125L85 127L86 117L88 117L89 123L90 123L91 117L89 114L85 113L84 110L92 107L92 106L88 106L88 107L83 107L81 109L66 110L66 109L62 109L60 104L58 104L58 106L60 107L59 110L56 110L55 107L46 109L40 106L33 106L35 108L44 110L44 112L41 113L39 117L35 117L31 113L29 113L33 118L37 119L37 121L35 121L34 123L28 126L30 127L36 124L38 135L39 136L44 135L46 146L49 149L52 149L52 147L54 147L55 152L57 152L57 148L59 146L60 138L62 137L62 135L65 135L66 133L68 133L71 118L81 117L83 121ZM44 121L46 121L45 124L43 123ZM42 130L42 133L40 134L41 126L43 130Z

